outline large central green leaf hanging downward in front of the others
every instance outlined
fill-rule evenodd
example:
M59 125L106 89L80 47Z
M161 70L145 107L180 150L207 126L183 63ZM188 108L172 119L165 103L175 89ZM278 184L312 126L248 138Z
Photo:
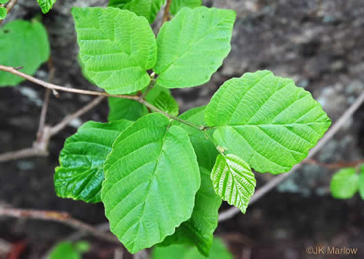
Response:
M200 186L196 155L188 134L160 113L119 135L104 171L105 215L131 253L163 241L191 217Z

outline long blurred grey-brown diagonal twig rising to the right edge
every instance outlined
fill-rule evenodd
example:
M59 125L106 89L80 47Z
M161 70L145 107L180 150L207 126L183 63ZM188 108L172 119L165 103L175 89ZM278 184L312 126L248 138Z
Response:
M354 112L356 110L358 110L358 108L363 103L364 103L364 92L361 93L361 95L359 95L359 97L356 99L356 101L354 102L354 104L352 104L352 106L350 106L349 108L347 108L347 110L345 111L345 113L343 113L343 115L341 115L341 117L329 129L329 131L327 131L327 133L321 138L321 140L317 143L317 145L314 146L314 148L312 148L310 150L310 153L307 155L307 159L310 159L314 155L316 155L316 153L318 153L320 151L320 149L323 148L325 146L325 144L329 140L331 140L332 137L334 137L334 135L340 130L340 128L343 125L345 125L345 123L347 122L347 119L349 119L350 117L352 117L352 115L354 114ZM281 182L287 180L287 178L289 178L301 166L302 166L302 162L299 163L299 164L296 164L296 166L294 166L292 168L292 170L290 171L290 173L283 173L283 174L281 174L281 175L276 176L275 178L273 178L270 182L267 182L267 184L263 185L261 188L259 188L254 193L254 195L252 195L252 198L250 199L249 204L250 205L253 204L257 200L259 200L260 198L262 198L266 193L268 193L269 191L271 191L272 189L274 189L278 184L280 184ZM227 209L226 211L223 211L223 212L219 213L219 221L228 220L228 219L234 217L234 215L236 215L237 213L239 213L239 211L240 210L238 208L236 208L236 207L232 207L230 209Z

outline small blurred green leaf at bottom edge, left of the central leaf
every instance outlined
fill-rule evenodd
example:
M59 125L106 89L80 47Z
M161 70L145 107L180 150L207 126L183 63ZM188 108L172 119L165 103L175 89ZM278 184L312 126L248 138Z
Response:
M88 242L80 241L76 244L71 242L59 242L52 251L49 259L81 259L81 254L90 249Z

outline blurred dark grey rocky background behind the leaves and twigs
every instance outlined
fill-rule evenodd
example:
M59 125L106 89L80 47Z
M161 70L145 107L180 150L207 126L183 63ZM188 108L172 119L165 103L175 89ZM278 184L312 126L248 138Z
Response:
M309 90L333 122L364 90L364 1L363 0L208 0L205 6L233 9L237 13L232 51L208 84L174 89L172 93L186 111L208 104L210 97L231 77L269 69L291 77ZM48 30L54 83L81 89L96 89L81 74L72 6L106 6L107 0L58 0L43 16ZM5 23L41 15L35 0L19 0ZM160 23L159 21L156 23ZM48 81L48 67L35 77ZM39 123L45 89L24 81L14 88L0 88L0 153L32 145ZM86 95L60 93L50 99L47 124L57 124L65 115L92 100ZM108 104L103 101L50 140L48 157L30 157L0 163L0 205L23 209L67 211L89 224L106 222L102 204L85 204L57 198L54 167L66 137L77 127L95 120L105 122ZM355 162L364 155L364 106L335 135L316 162ZM364 201L359 195L335 200L330 180L335 169L305 164L274 191L221 222L216 235L223 238L235 258L364 258ZM272 179L256 174L258 187ZM221 211L228 209L223 204ZM37 220L0 218L0 241L22 244L17 258L42 258L54 244L74 229ZM92 249L84 258L113 258L114 244L87 238ZM357 248L356 256L305 253L308 246L329 245ZM19 247L18 247L19 248ZM0 258L6 258L4 253ZM128 258L128 257L127 257ZM130 257L131 258L131 257ZM178 258L178 256L176 256Z

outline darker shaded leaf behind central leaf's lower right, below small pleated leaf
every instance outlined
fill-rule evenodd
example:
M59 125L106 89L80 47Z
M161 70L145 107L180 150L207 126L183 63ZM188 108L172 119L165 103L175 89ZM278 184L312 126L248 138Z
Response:
M190 220L183 222L176 228L176 232L165 238L161 244L192 244L199 249L200 253L208 256L219 221L221 198L214 192L210 170L200 166L200 173L201 187L196 193L196 202Z

